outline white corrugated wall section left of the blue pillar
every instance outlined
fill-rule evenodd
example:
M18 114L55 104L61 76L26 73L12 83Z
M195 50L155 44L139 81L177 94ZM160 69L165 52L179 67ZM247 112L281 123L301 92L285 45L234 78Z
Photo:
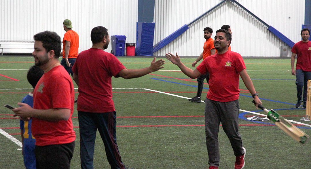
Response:
M95 26L136 43L137 5L138 0L0 0L0 40L32 40L34 34L45 30L63 39L63 21L70 19L79 34L80 51L91 47ZM106 51L110 50L111 45Z

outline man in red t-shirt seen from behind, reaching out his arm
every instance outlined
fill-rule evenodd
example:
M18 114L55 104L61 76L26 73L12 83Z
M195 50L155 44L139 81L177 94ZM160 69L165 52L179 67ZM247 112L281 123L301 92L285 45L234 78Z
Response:
M116 112L112 100L111 77L131 79L163 68L164 60L143 69L126 69L111 53L104 51L110 42L107 29L98 26L91 31L92 47L83 51L72 66L73 80L79 86L78 119L80 127L81 168L93 168L94 144L98 129L111 168L125 169L118 150Z

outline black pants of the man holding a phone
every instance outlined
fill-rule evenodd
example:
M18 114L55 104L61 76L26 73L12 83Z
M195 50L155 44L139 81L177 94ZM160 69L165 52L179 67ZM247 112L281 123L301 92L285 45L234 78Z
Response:
M68 144L36 146L37 169L69 169L75 142Z

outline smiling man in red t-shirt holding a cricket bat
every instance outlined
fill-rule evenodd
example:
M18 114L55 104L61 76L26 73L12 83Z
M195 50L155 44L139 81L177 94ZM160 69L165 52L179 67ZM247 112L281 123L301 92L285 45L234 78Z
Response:
M220 122L228 136L236 156L235 169L244 167L245 148L239 134L239 76L252 94L256 107L262 104L254 88L253 82L246 72L244 61L239 53L231 52L228 46L231 34L224 29L216 31L214 47L217 54L207 57L192 70L185 66L176 53L169 53L166 58L177 65L181 71L192 79L209 72L209 87L205 99L205 134L210 169L219 166L218 132Z

